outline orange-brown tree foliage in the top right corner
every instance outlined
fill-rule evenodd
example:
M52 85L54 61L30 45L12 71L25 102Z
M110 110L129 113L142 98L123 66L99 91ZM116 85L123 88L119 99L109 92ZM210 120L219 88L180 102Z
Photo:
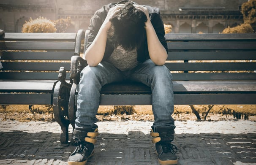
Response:
M244 23L256 23L256 0L249 0L242 4L241 13L243 15Z

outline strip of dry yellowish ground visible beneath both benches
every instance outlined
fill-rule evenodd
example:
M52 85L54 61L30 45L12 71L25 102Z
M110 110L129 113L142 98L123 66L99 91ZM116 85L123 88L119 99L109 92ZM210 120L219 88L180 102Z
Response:
M201 119L204 119L208 105L193 105L198 111ZM136 105L133 114L120 113L114 106L100 106L97 118L99 121L139 120L153 121L151 105ZM131 109L129 109L131 111ZM237 119L234 112L240 113L241 119L244 115L249 120L256 121L256 105L214 105L207 114L206 120L233 120ZM178 121L197 120L189 105L175 105L172 117ZM0 120L26 121L54 121L53 109L50 105L7 105L0 107Z

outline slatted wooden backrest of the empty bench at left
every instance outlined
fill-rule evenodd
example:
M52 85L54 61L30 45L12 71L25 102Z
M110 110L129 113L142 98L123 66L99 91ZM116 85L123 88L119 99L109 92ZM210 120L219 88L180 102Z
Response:
M78 33L5 33L0 36L3 65L0 79L56 80L60 67L70 70L71 56L80 54L83 37L83 30Z

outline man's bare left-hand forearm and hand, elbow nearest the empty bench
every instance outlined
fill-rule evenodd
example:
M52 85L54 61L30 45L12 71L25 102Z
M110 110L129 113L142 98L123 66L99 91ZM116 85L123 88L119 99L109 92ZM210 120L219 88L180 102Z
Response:
M95 39L85 51L85 59L87 60L87 64L91 67L97 66L101 60L103 59L105 49L106 49L106 41L107 41L107 32L111 27L111 22L109 21L110 18L114 14L116 14L123 5L116 5L113 8L109 9L109 12L104 20L103 24L101 25L100 30L98 31Z

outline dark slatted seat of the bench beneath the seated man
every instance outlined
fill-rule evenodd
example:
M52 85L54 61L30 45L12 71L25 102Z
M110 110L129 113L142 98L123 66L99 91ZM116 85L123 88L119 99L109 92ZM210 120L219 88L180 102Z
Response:
M173 90L176 105L255 104L256 99L256 81L173 81ZM100 104L151 105L151 90L141 83L107 84Z

